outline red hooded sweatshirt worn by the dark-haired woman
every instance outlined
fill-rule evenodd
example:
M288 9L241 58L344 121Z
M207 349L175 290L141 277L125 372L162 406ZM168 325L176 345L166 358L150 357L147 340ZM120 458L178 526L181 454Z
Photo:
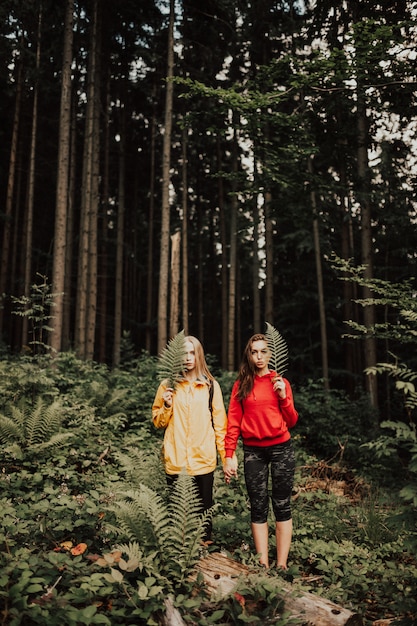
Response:
M227 415L226 457L232 457L239 435L248 446L274 446L290 439L289 429L295 426L298 413L294 407L290 383L284 378L287 397L281 400L273 390L275 372L255 376L253 389L241 402L236 394L239 381L233 385Z

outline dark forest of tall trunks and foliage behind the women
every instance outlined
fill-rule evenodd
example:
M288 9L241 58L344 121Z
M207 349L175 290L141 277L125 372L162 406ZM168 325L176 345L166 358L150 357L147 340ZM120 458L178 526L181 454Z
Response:
M294 382L376 405L364 370L409 357L378 338L396 312L371 287L415 290L413 3L4 0L0 16L3 349L33 349L16 299L33 310L43 284L54 353L118 365L126 341L158 354L184 329L232 371L270 322Z

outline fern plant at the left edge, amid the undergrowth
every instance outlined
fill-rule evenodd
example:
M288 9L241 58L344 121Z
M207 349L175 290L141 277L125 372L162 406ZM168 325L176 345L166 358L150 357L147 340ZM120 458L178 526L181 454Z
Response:
M61 404L47 406L39 397L34 407L10 406L0 414L0 444L16 459L33 457L65 445L73 436L59 432L63 420Z

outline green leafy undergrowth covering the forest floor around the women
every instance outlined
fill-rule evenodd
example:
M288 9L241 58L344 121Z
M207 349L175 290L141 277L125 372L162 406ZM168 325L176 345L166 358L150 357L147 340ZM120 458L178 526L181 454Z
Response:
M65 354L54 367L47 360L42 366L39 359L9 360L0 369L2 414L10 415L18 403L22 415L30 416L39 398L45 406L59 401L63 412L56 434L71 435L60 439L60 447L40 447L36 454L24 429L19 449L12 431L10 441L3 440L0 624L156 626L168 601L191 626L290 623L280 576L258 567L259 574L242 579L234 593L216 602L201 578L189 578L195 559L207 552L222 551L257 571L241 450L236 481L226 486L220 469L215 474L214 543L197 549L201 529L193 526L192 509L187 512L187 490L175 505L182 517L175 521L170 508L161 435L150 417L154 359L141 355L123 370L109 371ZM224 381L227 397L230 376ZM319 406L318 393L315 397ZM330 461L338 441L349 435L343 431L348 409L342 404L335 401L333 431L318 441L320 450L329 444L326 457L313 453L311 441L305 445L305 428L294 431L292 585L360 613L365 624L390 617L411 624L417 616L415 510L401 498L400 472L395 482L379 481L382 462L376 456L372 480L372 455L360 448L364 433L352 443L349 463L340 454ZM324 427L321 408L320 420ZM366 456L365 474L353 462L355 450ZM181 544L178 531L188 522ZM176 532L170 533L174 523ZM273 560L272 519L270 536Z

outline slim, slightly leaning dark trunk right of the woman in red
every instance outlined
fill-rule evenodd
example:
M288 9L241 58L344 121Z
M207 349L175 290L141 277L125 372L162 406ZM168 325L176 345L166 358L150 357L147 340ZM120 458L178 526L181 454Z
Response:
M308 173L310 178L313 174L313 157L308 159ZM313 211L313 239L314 239L314 258L316 261L316 277L317 277L317 294L319 301L319 319L320 319L320 337L321 337L321 367L323 375L323 386L326 391L330 390L329 386L329 361L327 356L327 327L326 327L326 307L324 302L323 289L323 268L321 265L321 246L319 220L317 214L316 192L314 189L310 191L311 207Z

